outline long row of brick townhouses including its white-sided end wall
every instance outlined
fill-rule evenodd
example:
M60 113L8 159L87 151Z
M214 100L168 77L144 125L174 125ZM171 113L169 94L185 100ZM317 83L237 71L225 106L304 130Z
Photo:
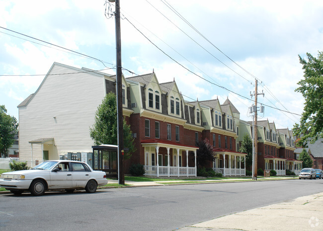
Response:
M115 82L115 76L103 72L54 63L37 91L18 106L20 157L90 155L89 127L104 96L116 92ZM209 167L223 175L245 175L245 154L238 150L243 134L251 137L250 124L240 119L229 99L223 104L218 99L187 102L175 81L159 83L154 72L122 76L122 96L123 115L136 147L126 160L126 171L132 163L140 163L146 175L196 176L196 143L208 139L217 157ZM293 148L288 142L280 144L274 124L259 126L259 134L261 127L258 141L263 145L258 147L264 158L258 158L258 166L284 170ZM111 167L108 160L102 161Z

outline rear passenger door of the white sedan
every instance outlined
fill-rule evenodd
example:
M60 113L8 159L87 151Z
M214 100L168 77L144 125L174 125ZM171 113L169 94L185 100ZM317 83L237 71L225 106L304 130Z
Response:
M72 165L72 185L74 188L85 188L87 181L90 178L89 169L81 162L71 162Z

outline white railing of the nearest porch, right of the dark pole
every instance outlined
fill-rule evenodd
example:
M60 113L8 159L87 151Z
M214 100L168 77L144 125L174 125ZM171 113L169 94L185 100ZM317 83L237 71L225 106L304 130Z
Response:
M145 165L145 175L150 176L157 176L157 170L159 173L159 176L195 176L196 175L196 169L195 167L171 167L169 168L167 166L159 166L157 169L157 166L151 166L151 165Z

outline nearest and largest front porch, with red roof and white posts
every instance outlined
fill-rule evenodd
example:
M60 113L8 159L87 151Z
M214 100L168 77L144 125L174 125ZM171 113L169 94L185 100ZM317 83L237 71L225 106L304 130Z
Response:
M142 140L141 144L145 148L145 175L196 176L198 147L165 140ZM190 153L194 154L194 163L188 158Z

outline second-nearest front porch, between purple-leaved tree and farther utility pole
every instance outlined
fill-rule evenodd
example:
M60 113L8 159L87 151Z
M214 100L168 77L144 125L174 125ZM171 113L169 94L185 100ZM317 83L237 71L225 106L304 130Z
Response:
M217 159L213 162L215 172L220 172L223 176L245 176L246 154L220 148L213 151L217 155Z

